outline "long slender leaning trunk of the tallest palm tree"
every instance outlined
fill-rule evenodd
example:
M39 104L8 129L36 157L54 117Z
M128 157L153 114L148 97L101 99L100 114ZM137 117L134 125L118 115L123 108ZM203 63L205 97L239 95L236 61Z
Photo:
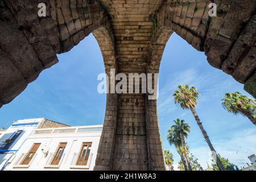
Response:
M218 168L220 169L220 171L226 171L222 162L221 162L221 160L218 158L217 152L215 151L215 149L212 145L212 142L210 142L208 134L207 134L207 132L205 131L205 129L203 127L203 124L200 122L200 119L199 119L198 115L196 114L196 110L193 107L190 107L190 110L192 111L192 114L194 115L194 117L196 119L196 123L199 126L199 128L200 128L200 130L201 130L201 132L204 136L204 139L205 139L205 141L207 142L207 144L210 148L210 151L212 151L212 153L213 153L213 158L216 161L216 164L217 164Z

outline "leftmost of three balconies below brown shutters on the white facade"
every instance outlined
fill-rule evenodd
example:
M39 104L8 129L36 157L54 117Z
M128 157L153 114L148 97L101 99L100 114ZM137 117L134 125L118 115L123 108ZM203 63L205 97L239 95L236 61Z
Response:
M36 155L35 152L23 153L19 156L18 160L16 160L13 168L29 168Z

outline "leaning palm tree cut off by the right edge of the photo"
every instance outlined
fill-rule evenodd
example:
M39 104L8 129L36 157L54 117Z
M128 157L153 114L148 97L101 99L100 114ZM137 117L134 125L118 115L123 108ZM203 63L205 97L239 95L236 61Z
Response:
M256 101L242 95L240 92L226 93L222 98L222 106L229 113L242 114L256 126Z

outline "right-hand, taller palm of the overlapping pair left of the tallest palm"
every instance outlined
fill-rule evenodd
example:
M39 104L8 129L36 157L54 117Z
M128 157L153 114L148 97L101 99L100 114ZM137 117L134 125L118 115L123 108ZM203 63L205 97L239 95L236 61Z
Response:
M173 128L173 131L176 132L177 134L180 135L181 138L181 144L184 148L184 156L185 156L185 161L187 163L187 167L189 171L192 171L191 164L189 162L189 154L188 154L188 146L187 143L185 142L185 138L188 137L188 133L190 132L190 126L188 123L185 123L183 119L176 119L174 121L175 125L172 125L171 128Z

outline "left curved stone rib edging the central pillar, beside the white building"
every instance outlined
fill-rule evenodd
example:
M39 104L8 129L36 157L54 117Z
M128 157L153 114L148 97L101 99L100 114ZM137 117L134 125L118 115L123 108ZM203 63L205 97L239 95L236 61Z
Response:
M114 36L109 26L101 26L93 31L102 53L106 75L110 78L111 69L117 69ZM110 82L108 89L110 88ZM110 170L112 167L113 150L115 143L115 128L117 125L118 95L107 93L104 127L98 146L96 166L94 170Z

